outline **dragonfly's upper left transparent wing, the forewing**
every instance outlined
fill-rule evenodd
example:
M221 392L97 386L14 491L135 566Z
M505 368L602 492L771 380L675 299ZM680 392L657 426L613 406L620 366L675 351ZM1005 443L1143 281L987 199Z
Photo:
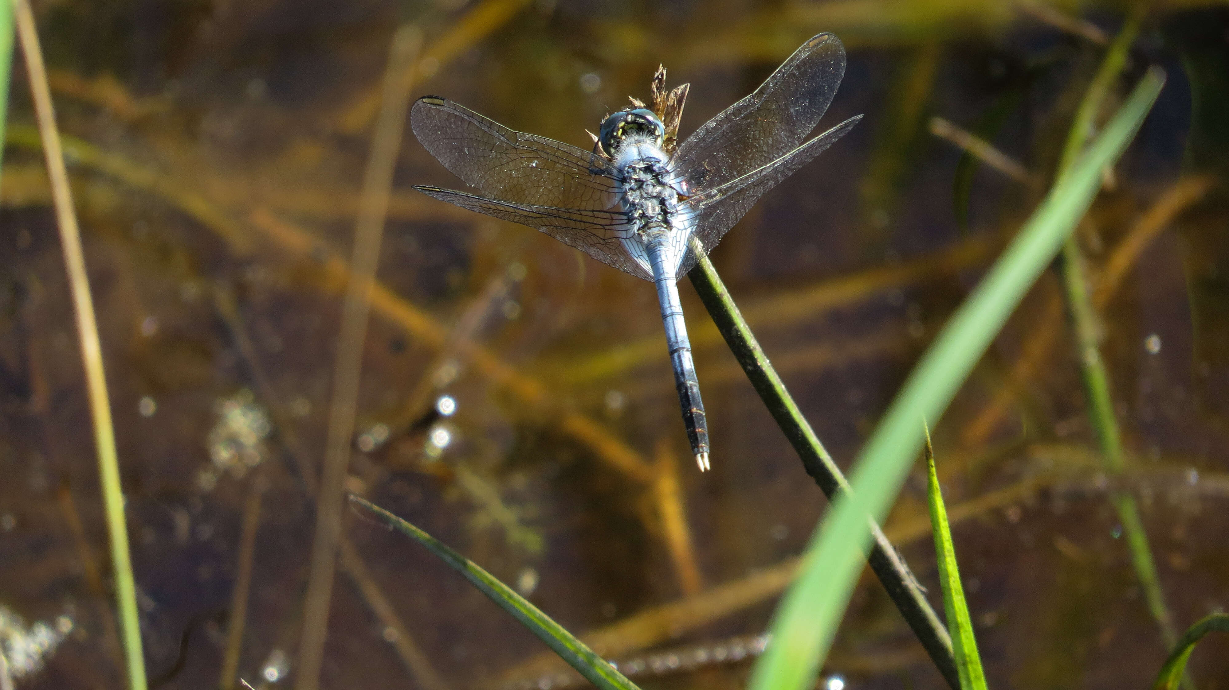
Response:
M617 201L607 160L590 151L508 129L436 96L419 98L409 123L444 167L484 196L583 210Z

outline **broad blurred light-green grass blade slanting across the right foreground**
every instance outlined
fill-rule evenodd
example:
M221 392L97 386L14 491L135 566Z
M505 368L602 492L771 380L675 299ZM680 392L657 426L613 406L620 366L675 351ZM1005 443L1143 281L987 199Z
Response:
M773 643L752 690L811 688L862 570L868 516L882 519L922 449L918 419L939 419L1029 287L1058 253L1100 188L1101 168L1129 144L1165 82L1149 70L1075 167L1046 195L935 338L855 462L853 491L816 528L798 580L778 605Z

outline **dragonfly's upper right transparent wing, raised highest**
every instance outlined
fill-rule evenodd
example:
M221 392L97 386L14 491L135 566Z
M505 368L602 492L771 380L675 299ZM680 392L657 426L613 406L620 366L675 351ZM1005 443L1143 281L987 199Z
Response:
M671 165L696 192L713 189L798 149L820 123L844 76L841 41L821 33L760 88L687 138Z

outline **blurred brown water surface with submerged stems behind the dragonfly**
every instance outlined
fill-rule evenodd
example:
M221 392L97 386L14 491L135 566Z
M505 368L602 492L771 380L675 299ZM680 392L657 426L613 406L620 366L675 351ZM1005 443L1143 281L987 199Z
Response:
M1113 93L1150 64L1169 85L1079 228L1129 470L1100 471L1053 273L935 430L992 686L1155 674L1165 649L1111 490L1141 501L1180 627L1229 602L1229 12L1154 5ZM425 37L414 96L585 149L586 128L648 97L659 63L671 86L692 85L686 135L803 41L837 33L849 66L821 128L865 119L713 260L844 463L1040 199L1123 6L60 0L36 16L102 328L146 661L163 688L197 689L219 686L248 548L240 675L294 683L343 258L397 26ZM76 334L20 69L12 95L0 605L70 630L23 688L119 688ZM987 140L1023 182L932 134L933 118ZM691 287L705 474L687 459L649 284L409 184L461 185L407 126L345 489L573 631L619 624L602 648L640 663L645 686L741 686L826 502ZM919 474L887 533L941 608L925 521ZM345 534L322 688L576 683L424 550L351 514ZM415 649L430 669L407 661ZM1192 676L1223 688L1227 659L1209 637ZM826 670L846 688L943 686L873 577Z

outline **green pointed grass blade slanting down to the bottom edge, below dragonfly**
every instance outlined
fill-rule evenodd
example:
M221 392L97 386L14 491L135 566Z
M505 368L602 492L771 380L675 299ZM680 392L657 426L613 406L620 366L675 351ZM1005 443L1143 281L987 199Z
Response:
M554 653L559 654L563 661L568 662L568 665L576 669L580 675L585 676L586 680L592 683L599 689L639 690L634 683L624 678L623 674L616 670L614 667L606 662L606 659L594 653L594 651L585 646L584 642L564 630L563 626L551 620L549 616L538 610L538 608L533 604L526 602L524 597L510 589L506 584L495 580L494 576L478 567L478 565L473 561L469 561L461 554L450 549L442 541L439 541L430 534L390 513L380 506L376 506L375 503L359 498L358 496L350 496L350 502L374 513L376 518L388 525L390 529L396 529L397 532L414 539L423 546L426 546L428 550L439 556L440 560L447 565L452 566L454 570L460 572L466 580L469 581L471 584L477 587L478 591L485 594L492 602L499 604L499 608L511 614L517 622L527 627L531 632L533 632L533 635L537 635L540 640L554 649Z

